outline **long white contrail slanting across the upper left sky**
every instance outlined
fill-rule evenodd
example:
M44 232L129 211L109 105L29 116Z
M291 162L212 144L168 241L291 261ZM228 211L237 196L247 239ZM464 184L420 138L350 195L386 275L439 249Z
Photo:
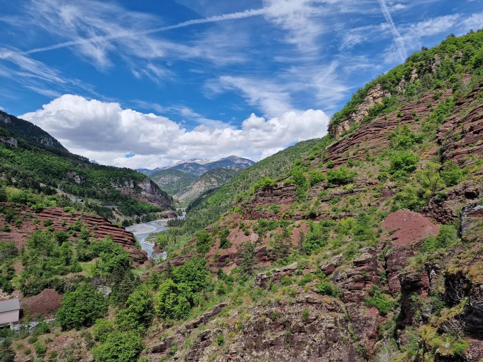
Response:
M244 18L247 18L247 17L263 15L263 14L265 14L265 12L266 12L266 9L264 9L264 8L249 9L249 10L245 10L243 12L238 12L238 13L214 15L214 16L209 16L209 17L205 17L205 18L201 18L201 19L187 20L187 21L184 21L182 23L175 24L175 25L169 25L169 26L165 26L165 27L148 29L148 30L143 30L143 31L125 31L125 32L116 33L116 34L112 34L112 35L103 35L103 36L97 36L97 37L92 37L92 38L87 38L87 39L72 40L70 42L62 42L62 43L58 43L58 44L54 44L54 45L44 46L42 48L31 49L31 50L28 50L26 52L22 52L20 54L25 55L25 54L39 53L39 52L45 52L47 50L65 48L66 46L71 46L71 45L80 45L80 44L87 44L87 43L93 43L93 42L101 42L101 41L105 41L105 40L113 40L113 39L119 39L119 38L137 37L137 36L140 36L140 35L157 33L159 31L166 31L166 30L171 30L171 29L184 28L184 27L188 27L188 26L194 25L194 24L214 23L214 22L223 21L223 20L244 19Z

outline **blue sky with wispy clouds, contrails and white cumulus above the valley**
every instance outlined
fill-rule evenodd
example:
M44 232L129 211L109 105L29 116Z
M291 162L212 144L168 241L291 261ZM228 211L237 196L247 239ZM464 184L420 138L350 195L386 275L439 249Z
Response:
M0 0L0 107L101 163L259 160L481 0ZM128 157L126 157L128 155Z

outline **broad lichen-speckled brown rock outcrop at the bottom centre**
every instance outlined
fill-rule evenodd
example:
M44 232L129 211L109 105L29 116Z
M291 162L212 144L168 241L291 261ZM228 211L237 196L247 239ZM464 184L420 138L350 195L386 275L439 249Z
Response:
M218 351L218 361L337 361L356 362L361 357L349 340L348 322L340 302L327 296L298 291L294 298L283 298L260 308L249 308L244 315L229 310L229 319L217 315L208 321L206 329L193 332L188 348L173 356L175 360L205 361ZM302 318L302 315L305 317ZM213 317L212 317L213 318ZM189 322L188 322L189 323ZM186 323L186 324L188 324ZM218 328L220 323L228 323ZM186 331L186 324L178 328ZM225 347L218 348L216 341L223 337ZM176 333L161 342L148 346L143 355L149 361L169 355L176 344L181 346L185 336Z

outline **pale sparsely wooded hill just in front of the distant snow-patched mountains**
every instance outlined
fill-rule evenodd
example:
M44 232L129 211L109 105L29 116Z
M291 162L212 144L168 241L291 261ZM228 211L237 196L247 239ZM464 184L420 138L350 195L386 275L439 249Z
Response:
M190 203L199 195L218 186L224 185L227 181L241 172L241 168L223 168L216 167L203 173L196 180L191 181L188 185L180 188L174 195L174 198L181 202Z

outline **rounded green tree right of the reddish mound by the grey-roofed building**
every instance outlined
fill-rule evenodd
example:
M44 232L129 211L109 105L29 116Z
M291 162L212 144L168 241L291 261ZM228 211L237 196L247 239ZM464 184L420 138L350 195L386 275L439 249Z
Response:
M66 292L57 311L56 321L64 331L91 326L107 311L107 301L90 283L80 283L73 292Z

